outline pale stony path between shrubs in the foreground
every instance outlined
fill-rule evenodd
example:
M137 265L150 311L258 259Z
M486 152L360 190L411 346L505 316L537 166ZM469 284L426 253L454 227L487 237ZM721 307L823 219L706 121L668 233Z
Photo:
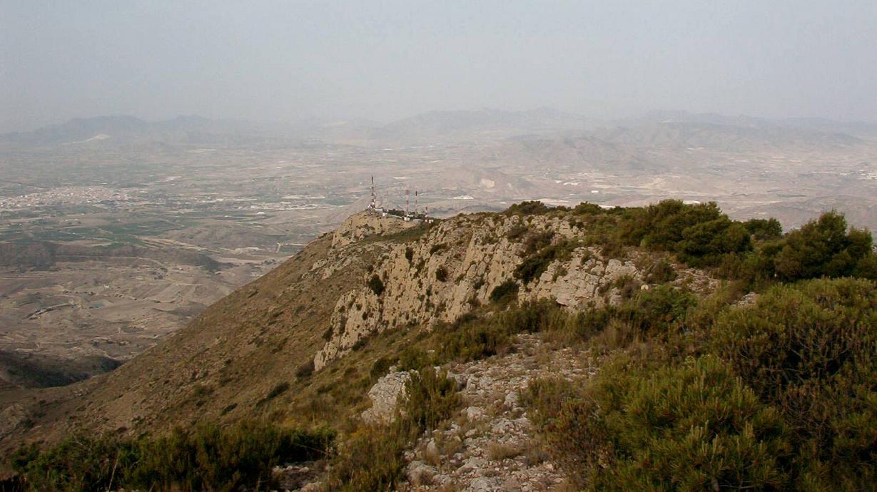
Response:
M557 490L564 481L548 458L521 403L530 381L594 374L587 354L552 349L520 335L515 352L450 368L464 410L427 431L406 453L408 483L400 492Z

